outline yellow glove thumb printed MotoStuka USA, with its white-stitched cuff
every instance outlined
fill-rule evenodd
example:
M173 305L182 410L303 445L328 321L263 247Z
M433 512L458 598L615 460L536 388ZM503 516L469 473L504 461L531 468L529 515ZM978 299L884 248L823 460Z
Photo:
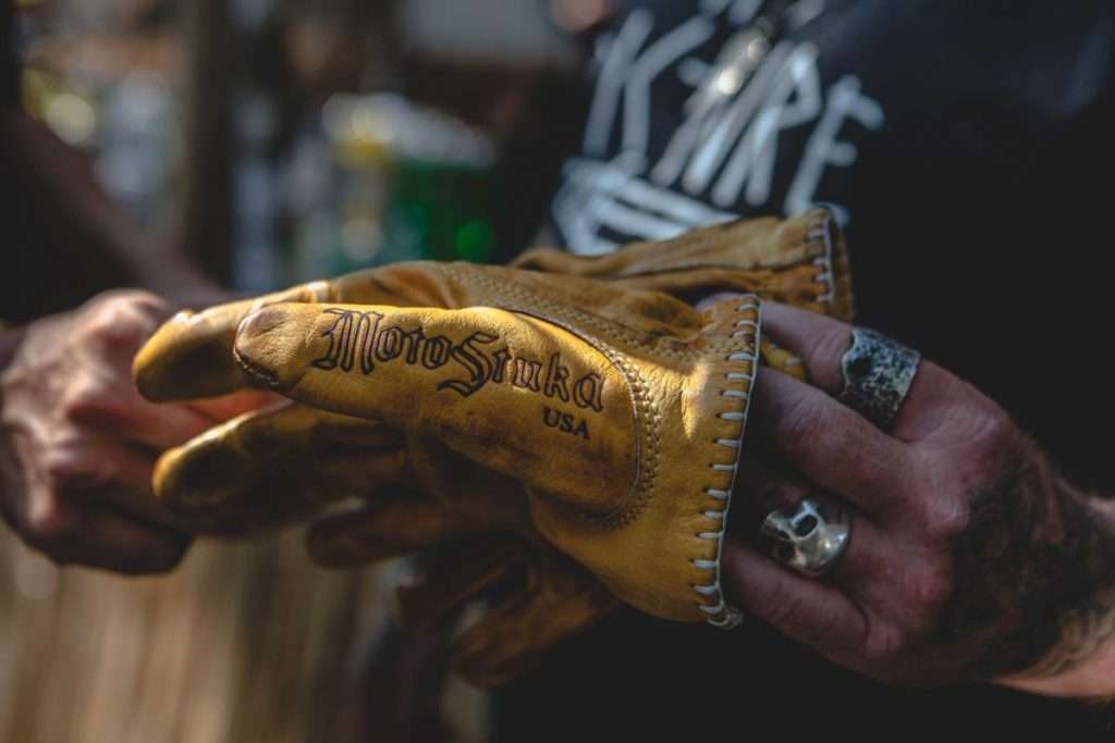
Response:
M280 394L436 437L526 485L539 531L622 600L727 622L719 544L757 301L701 315L588 280L423 268L491 306L271 305L241 323L234 355Z

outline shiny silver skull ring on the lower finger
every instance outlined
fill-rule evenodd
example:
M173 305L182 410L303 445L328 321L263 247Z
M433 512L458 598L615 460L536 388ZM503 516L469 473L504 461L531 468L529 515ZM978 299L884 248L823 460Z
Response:
M835 498L811 497L794 509L776 509L763 521L774 539L773 557L809 578L832 569L852 538L852 518Z

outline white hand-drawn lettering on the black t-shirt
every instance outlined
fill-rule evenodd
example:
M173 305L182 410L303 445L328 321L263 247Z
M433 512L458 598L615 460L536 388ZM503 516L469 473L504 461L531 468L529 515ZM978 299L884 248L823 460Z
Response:
M553 217L574 253L601 254L617 247L614 235L668 239L687 229L725 222L748 207L796 214L818 199L828 168L856 159L842 139L851 121L864 130L883 126L878 101L854 75L827 89L817 69L817 47L808 40L775 43L735 95L688 115L653 162L650 131L653 85L663 75L697 89L712 65L696 56L717 30L717 17L746 26L759 3L706 0L695 17L648 41L656 30L651 10L632 11L617 33L597 46L597 86L585 127L583 155L570 160L554 198ZM804 148L783 147L779 135L811 127ZM619 151L609 145L619 139ZM778 158L796 159L785 194L774 194ZM770 203L773 198L782 203ZM847 209L827 202L842 221ZM607 235L604 233L608 233Z

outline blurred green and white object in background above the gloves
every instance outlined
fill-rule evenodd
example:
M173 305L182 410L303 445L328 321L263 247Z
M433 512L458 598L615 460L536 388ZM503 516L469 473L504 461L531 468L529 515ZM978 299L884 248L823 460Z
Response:
M333 96L322 125L333 195L302 225L302 273L492 260L494 156L483 134L391 94Z

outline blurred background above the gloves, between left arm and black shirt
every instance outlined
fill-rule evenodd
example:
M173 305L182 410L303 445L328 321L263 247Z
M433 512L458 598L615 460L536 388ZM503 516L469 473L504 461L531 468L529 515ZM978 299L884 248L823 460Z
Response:
M502 184L575 131L563 31L600 2L28 0L25 106L236 287L487 261L541 221Z

